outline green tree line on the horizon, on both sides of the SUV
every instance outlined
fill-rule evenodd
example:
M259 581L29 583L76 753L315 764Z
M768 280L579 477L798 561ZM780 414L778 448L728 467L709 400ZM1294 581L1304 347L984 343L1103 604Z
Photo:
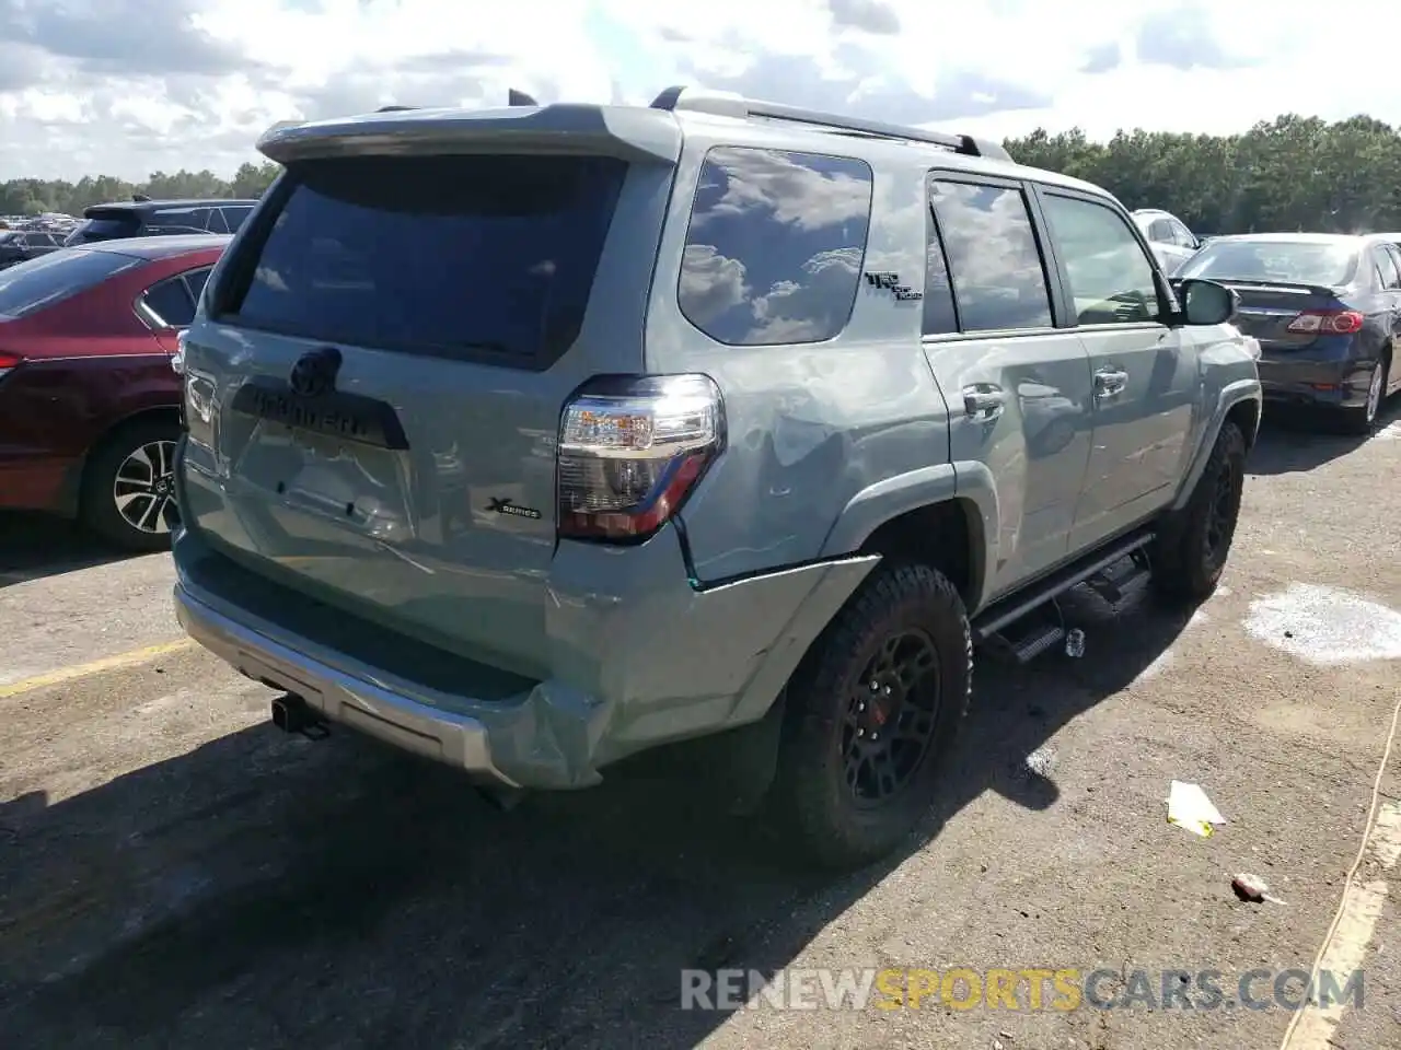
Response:
M1006 147L1023 164L1104 186L1129 209L1167 209L1201 235L1401 230L1401 130L1370 116L1330 123L1289 113L1243 134L1133 130L1108 141L1038 129ZM80 216L133 193L256 197L276 174L265 162L244 164L228 181L212 171L156 172L140 183L11 179L0 183L0 214Z

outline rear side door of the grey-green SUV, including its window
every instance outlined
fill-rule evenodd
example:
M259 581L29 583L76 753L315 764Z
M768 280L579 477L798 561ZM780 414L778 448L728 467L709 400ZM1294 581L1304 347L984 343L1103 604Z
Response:
M1055 328L1024 186L933 172L929 199L925 356L953 461L986 463L998 482L995 598L1066 554L1090 455L1090 364Z

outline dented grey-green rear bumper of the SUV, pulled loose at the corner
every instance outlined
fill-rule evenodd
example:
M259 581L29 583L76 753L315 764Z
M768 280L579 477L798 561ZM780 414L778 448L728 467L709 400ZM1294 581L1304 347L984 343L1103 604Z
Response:
M387 650L354 644L343 613L298 612L304 596L249 580L191 531L174 553L181 624L244 675L474 780L546 790L590 787L628 755L758 721L878 560L696 589L670 529L629 550L562 545L546 610L553 671L528 680L450 654L432 675L425 661L387 666L367 658ZM258 588L266 601L248 599Z

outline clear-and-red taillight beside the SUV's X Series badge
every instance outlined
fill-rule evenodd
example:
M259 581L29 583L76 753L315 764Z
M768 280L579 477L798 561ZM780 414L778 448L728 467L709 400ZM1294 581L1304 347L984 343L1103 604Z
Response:
M587 384L559 423L559 535L646 539L723 448L724 406L709 377Z

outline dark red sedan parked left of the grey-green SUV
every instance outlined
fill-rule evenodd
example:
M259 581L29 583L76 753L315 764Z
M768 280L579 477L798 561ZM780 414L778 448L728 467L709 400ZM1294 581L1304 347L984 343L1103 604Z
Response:
M171 354L230 239L102 241L0 270L0 510L168 547Z

